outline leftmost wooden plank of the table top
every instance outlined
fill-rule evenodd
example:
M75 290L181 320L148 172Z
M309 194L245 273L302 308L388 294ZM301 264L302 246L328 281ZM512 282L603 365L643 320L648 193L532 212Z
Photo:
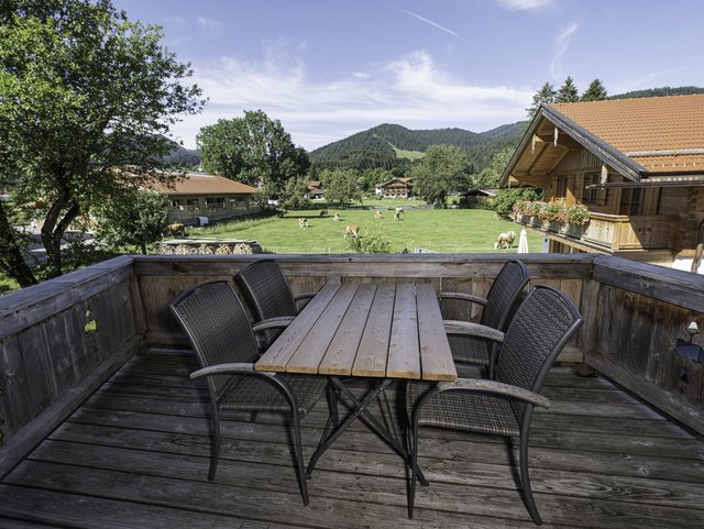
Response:
M294 322L284 329L284 332L260 357L256 362L256 370L286 372L286 365L296 353L298 345L304 341L312 323L318 320L341 286L339 283L326 284L304 307Z

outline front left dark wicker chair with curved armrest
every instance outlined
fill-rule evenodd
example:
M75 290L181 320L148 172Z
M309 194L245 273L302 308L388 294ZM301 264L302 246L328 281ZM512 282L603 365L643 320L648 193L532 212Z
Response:
M298 485L304 504L308 505L300 420L324 392L327 379L254 371L258 357L254 332L232 285L226 280L193 287L174 299L170 309L200 364L190 377L205 377L208 385L213 427L208 478L215 478L220 455L221 411L287 414L293 419ZM330 392L328 396L333 398Z

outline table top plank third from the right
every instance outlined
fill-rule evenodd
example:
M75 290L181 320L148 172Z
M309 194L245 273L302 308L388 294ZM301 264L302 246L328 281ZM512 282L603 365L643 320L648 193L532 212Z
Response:
M394 313L395 285L380 285L370 309L352 376L384 377Z

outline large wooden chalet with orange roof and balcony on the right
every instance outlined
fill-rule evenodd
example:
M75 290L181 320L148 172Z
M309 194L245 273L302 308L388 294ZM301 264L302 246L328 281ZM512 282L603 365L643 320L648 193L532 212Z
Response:
M502 177L517 185L590 210L542 224L551 252L704 272L704 95L542 106Z

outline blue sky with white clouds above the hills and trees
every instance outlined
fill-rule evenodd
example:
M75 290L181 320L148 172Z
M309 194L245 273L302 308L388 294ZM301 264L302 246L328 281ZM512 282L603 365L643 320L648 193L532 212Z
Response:
M483 132L546 81L704 86L700 0L113 0L160 24L209 102L174 135L262 109L308 151L381 123Z

